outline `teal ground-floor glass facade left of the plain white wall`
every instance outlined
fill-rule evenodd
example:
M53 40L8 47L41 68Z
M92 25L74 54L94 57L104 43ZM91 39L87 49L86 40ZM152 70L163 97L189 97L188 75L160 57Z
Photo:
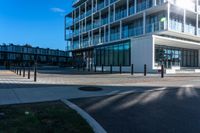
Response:
M130 66L131 46L130 41L107 45L96 49L97 66Z

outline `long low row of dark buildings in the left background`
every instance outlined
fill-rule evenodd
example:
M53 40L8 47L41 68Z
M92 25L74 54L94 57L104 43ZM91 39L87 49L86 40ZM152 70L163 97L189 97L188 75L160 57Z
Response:
M0 45L0 65L30 66L37 61L40 65L65 65L67 52L61 50L44 49L30 45Z

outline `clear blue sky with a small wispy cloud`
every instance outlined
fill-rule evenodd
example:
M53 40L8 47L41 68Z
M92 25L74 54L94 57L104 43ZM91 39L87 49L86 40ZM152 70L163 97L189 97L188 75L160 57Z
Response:
M0 0L0 44L64 50L64 15L72 0Z

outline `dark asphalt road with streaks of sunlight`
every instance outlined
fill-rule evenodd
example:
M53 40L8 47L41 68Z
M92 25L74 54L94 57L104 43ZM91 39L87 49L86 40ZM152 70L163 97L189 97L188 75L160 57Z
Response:
M108 133L200 133L200 89L122 94L71 100Z

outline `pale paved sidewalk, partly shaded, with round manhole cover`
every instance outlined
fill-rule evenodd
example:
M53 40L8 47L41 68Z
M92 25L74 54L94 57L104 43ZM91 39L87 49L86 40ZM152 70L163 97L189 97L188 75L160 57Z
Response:
M39 76L39 81L35 83L33 80L17 76L13 72L0 71L0 105L156 91L187 86L195 87L200 84L196 77L190 78L190 80L187 80L188 82L185 82L185 80L170 82L171 80L168 79L162 81L152 79L152 82L142 82L143 79L139 77L141 81L137 83L134 82L138 80L136 77L127 78L126 75L120 77L120 75L40 74ZM104 79L105 77L107 79ZM108 79L109 77L111 79ZM60 79L63 80L60 81ZM129 82L125 82L126 80ZM95 84L97 81L98 84ZM130 81L133 81L133 83ZM103 91L86 92L78 89L90 85L101 87Z

